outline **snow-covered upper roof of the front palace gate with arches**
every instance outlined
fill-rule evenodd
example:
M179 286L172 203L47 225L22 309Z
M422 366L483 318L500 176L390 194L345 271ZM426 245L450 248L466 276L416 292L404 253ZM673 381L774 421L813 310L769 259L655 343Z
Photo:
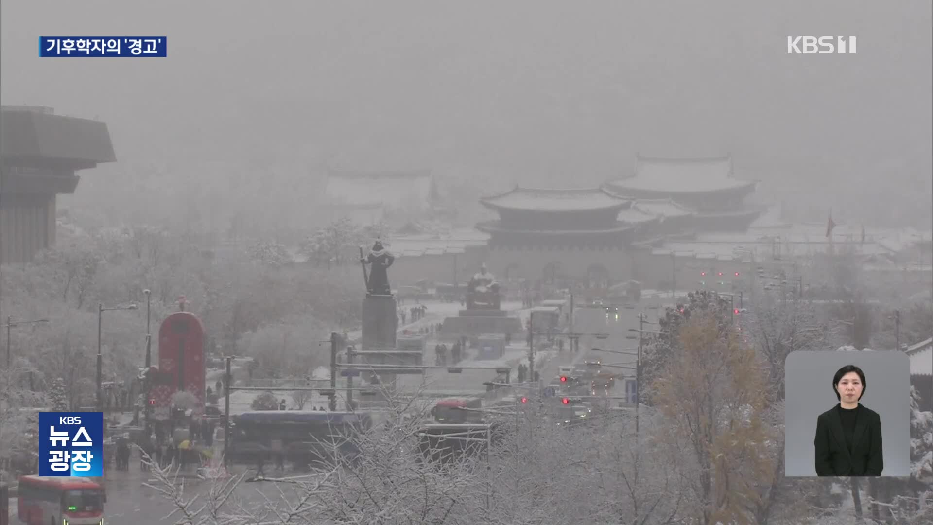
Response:
M598 209L621 209L631 203L606 192L602 188L519 188L510 192L486 197L480 204L492 209L524 211L586 211Z

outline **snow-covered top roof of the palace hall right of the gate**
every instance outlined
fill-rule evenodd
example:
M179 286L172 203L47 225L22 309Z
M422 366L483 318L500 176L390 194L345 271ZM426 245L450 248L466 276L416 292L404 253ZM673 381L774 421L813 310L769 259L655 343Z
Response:
M637 155L634 177L609 182L620 193L640 192L717 192L754 186L757 181L732 177L732 158L698 157L671 159Z

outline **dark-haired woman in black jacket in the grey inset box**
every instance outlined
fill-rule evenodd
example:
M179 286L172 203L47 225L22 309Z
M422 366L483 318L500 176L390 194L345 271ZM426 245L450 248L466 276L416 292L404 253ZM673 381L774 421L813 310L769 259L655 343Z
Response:
M839 404L816 419L816 475L881 475L881 416L858 403L866 387L865 373L854 364L833 376Z

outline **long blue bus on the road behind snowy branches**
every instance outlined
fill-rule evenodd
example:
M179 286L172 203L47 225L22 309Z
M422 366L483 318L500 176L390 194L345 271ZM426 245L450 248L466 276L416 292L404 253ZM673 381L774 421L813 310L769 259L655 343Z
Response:
M369 414L303 410L262 410L230 418L230 461L291 461L297 465L330 463L335 452L352 460L353 438L372 426Z

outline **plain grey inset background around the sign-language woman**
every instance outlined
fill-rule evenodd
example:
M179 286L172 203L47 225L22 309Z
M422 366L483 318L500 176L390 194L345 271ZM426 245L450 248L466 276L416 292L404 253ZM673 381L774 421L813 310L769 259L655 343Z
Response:
M884 477L911 472L911 371L895 351L796 351L785 361L785 475L815 476L816 417L839 404L832 376L846 364L865 373L860 404L881 416Z

